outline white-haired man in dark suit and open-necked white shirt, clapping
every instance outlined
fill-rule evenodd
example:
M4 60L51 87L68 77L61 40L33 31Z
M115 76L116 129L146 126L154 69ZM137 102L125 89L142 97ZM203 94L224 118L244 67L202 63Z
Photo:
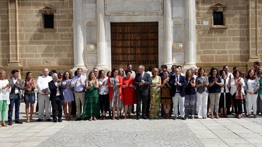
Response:
M58 77L56 73L53 73L51 77L53 78L53 80L48 83L48 87L51 92L50 101L52 104L53 121L57 122L56 106L58 106L58 122L62 122L62 113L63 113L62 105L64 100L63 91L62 91L63 86L61 85L62 82L58 81Z

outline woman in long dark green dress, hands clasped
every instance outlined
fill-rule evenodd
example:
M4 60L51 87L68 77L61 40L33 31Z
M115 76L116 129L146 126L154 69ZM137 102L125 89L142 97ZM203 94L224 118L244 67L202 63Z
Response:
M83 110L84 120L92 121L96 120L96 116L100 116L100 104L98 98L99 83L95 77L93 71L89 72L88 79L85 83L86 96L85 96L85 105Z

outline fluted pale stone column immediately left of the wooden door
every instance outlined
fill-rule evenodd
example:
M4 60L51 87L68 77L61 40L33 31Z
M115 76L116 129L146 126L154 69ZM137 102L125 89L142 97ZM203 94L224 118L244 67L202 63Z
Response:
M105 42L105 3L104 0L96 1L97 13L97 65L96 68L107 70L106 42Z

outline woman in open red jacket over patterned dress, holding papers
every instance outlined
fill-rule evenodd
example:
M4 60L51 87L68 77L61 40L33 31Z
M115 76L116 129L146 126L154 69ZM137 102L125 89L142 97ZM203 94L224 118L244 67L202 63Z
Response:
M119 118L119 108L123 105L123 97L122 97L122 88L123 80L120 75L118 75L118 69L114 68L112 70L111 76L107 81L109 85L109 99L110 99L110 109L112 110L112 119L120 119ZM115 116L115 112L117 115Z

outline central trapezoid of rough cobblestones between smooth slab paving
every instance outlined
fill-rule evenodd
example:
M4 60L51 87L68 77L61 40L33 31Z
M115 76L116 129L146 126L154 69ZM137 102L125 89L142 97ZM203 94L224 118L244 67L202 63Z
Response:
M172 119L77 121L39 146L60 145L203 146L182 120Z

